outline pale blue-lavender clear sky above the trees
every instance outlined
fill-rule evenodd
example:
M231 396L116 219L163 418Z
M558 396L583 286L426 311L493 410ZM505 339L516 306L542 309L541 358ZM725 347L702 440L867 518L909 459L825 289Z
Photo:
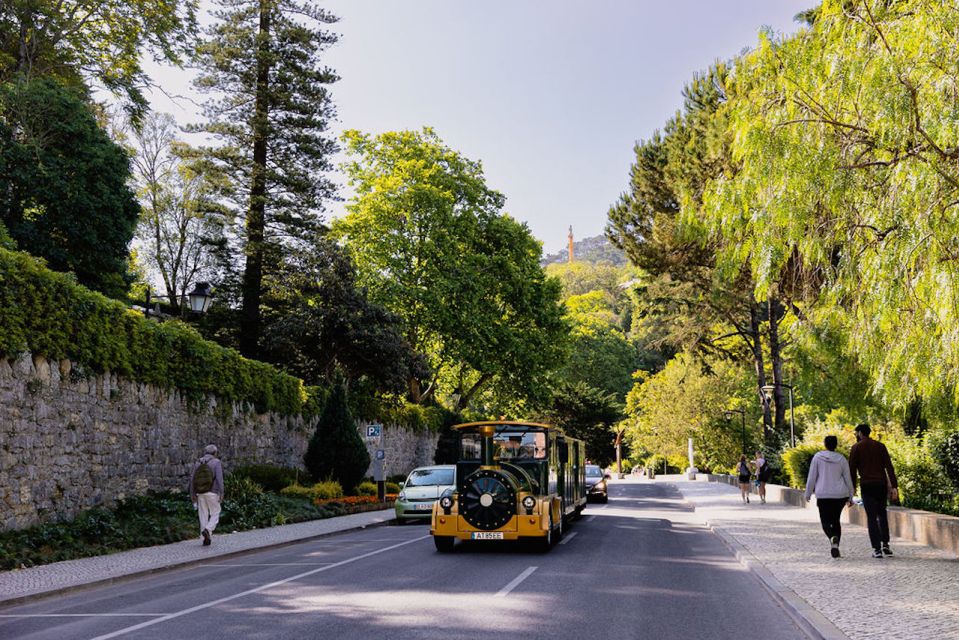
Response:
M332 130L429 126L483 163L506 211L545 253L603 233L633 145L682 103L697 71L799 28L814 0L326 0L340 17L324 56L340 75ZM169 94L189 73L155 70ZM197 121L189 101L154 108ZM343 184L342 177L336 181ZM341 196L349 198L344 188ZM327 217L342 215L333 203Z

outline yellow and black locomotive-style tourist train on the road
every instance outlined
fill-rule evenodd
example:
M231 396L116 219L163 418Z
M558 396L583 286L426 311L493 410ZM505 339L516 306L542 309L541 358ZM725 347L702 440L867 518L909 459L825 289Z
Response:
M453 427L455 489L433 507L436 549L456 540L529 540L548 550L586 506L586 446L557 427L494 420Z

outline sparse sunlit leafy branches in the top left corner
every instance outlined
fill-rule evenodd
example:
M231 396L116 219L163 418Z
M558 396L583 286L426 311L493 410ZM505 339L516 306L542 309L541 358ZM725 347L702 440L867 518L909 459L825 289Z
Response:
M147 109L142 56L179 63L196 23L196 0L5 0L0 4L0 82L90 82Z

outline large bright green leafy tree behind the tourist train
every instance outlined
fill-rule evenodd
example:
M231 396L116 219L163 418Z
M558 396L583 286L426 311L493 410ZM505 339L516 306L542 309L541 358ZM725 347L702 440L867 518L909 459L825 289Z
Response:
M358 282L402 319L407 342L434 377L409 380L425 402L446 386L453 409L487 386L545 394L563 357L560 286L539 266L529 229L500 212L479 163L429 129L344 135L356 195L333 225Z

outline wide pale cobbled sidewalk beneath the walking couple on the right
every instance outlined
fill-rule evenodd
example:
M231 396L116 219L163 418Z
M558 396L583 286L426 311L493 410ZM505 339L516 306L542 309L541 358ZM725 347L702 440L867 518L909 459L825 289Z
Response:
M682 476L652 482L675 484L698 518L822 637L959 638L955 555L893 538L895 555L878 560L865 527L844 523L842 557L834 560L815 506L761 504L755 495L743 504L736 487Z

